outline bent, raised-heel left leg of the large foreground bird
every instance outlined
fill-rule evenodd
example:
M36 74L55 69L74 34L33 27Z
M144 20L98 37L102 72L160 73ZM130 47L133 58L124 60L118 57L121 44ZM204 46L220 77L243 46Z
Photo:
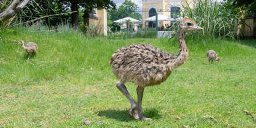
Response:
M125 97L128 99L128 101L131 103L129 114L133 116L135 119L139 119L139 115L137 111L134 111L138 106L137 102L133 99L133 97L131 97L124 83L122 83L121 81L117 82L117 89L119 89L123 93L123 95L125 95Z

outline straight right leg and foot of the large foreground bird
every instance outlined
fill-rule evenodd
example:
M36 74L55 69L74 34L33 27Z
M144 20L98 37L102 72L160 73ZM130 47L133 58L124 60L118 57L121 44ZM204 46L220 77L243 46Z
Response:
M141 103L142 103L142 97L143 97L143 92L144 92L144 87L137 87L137 95L138 95L138 105L139 105L139 119L141 120L147 120L147 121L152 121L152 119L143 117L142 114L142 108L141 108ZM136 110L135 110L136 111Z

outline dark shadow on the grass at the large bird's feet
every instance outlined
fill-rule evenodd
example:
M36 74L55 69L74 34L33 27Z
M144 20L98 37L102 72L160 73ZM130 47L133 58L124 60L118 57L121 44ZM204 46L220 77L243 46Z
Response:
M145 109L145 111L143 111L143 115L153 120L161 117L159 111L156 109ZM129 115L128 110L108 109L99 111L98 116L115 119L117 121L135 121L135 119Z

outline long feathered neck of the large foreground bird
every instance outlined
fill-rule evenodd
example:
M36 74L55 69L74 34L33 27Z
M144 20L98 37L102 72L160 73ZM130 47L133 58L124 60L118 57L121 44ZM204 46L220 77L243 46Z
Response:
M185 63L189 55L189 51L185 43L185 32L181 30L180 26L178 29L178 43L179 43L179 54L173 60L173 66L172 66L173 68L179 67L179 65L182 65L183 63Z

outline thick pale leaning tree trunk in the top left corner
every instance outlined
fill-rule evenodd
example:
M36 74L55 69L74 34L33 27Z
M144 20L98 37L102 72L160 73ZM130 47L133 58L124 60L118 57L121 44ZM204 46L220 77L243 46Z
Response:
M30 0L14 0L5 11L0 13L0 22L1 24L5 24L6 21L11 19L11 17L17 15L19 11L21 11Z

